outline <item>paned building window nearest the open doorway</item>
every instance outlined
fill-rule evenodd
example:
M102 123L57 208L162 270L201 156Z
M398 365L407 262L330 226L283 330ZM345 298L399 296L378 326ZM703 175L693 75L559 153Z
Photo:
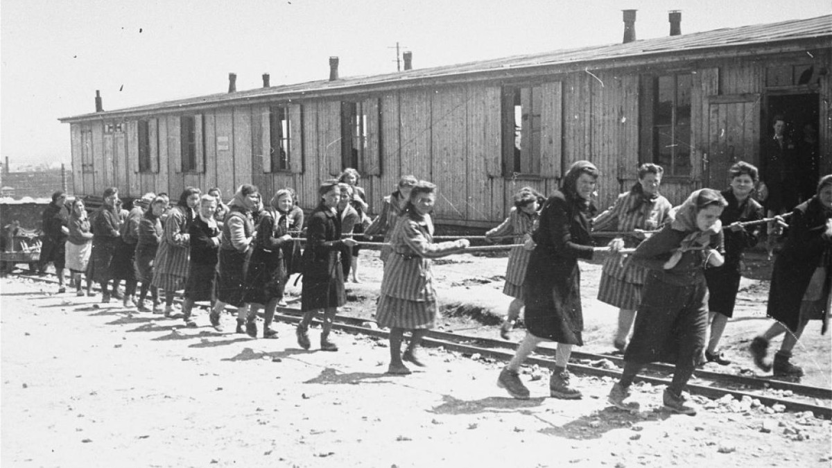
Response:
M653 162L666 175L691 175L691 88L690 74L653 81Z

